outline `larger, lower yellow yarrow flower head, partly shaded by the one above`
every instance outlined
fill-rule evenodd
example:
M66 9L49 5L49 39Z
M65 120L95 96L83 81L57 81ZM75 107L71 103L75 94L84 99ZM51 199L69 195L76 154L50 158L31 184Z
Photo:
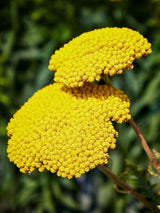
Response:
M46 168L80 177L106 164L115 148L112 122L130 119L129 99L107 85L67 88L55 83L36 92L8 124L8 157L21 172Z

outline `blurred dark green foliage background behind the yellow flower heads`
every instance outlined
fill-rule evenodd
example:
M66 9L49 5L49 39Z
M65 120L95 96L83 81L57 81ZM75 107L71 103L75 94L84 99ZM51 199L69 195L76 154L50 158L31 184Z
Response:
M152 43L151 55L136 60L134 70L112 77L112 82L129 96L134 120L150 147L160 152L159 0L0 1L0 213L150 212L117 192L98 169L72 180L49 172L21 174L6 155L9 119L36 90L53 82L51 54L83 32L114 26L137 30ZM128 123L116 128L119 137L109 167L120 174L128 159L144 168L132 165L134 188L156 203L156 180L143 180L149 160L134 131Z

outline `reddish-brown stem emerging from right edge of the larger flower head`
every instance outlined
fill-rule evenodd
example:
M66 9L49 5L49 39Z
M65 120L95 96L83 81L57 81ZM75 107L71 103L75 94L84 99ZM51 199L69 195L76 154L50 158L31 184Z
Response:
M160 165L158 164L158 162L156 161L155 157L153 156L146 140L144 139L141 131L139 130L139 128L137 127L136 123L134 122L133 118L131 118L129 120L130 125L133 127L133 129L135 130L146 154L148 155L149 159L151 160L151 163L154 165L155 169L157 170L157 172L160 174Z

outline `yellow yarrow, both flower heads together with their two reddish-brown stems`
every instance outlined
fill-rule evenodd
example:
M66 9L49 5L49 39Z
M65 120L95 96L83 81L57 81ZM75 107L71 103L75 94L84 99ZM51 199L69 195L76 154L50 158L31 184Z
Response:
M47 169L69 179L98 166L158 212L104 166L109 150L116 147L118 132L112 122L129 121L151 162L160 170L131 118L127 95L113 88L108 78L132 69L136 58L150 53L151 44L141 34L116 27L84 33L57 50L49 62L56 83L37 91L8 124L10 161L23 173ZM101 78L106 85L94 84Z

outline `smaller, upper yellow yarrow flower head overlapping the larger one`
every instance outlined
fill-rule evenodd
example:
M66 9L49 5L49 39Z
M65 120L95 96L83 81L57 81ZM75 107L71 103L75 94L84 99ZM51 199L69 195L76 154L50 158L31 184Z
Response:
M136 58L151 53L151 44L128 28L103 28L83 33L52 55L49 69L55 81L69 87L99 81L101 74L121 74L132 69Z

